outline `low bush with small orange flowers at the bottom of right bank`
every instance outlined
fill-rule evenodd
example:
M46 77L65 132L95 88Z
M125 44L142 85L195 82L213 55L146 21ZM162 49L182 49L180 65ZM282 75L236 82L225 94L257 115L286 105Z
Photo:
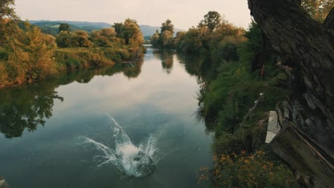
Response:
M247 156L214 156L213 181L220 188L298 188L291 170L268 161L265 153L257 151Z

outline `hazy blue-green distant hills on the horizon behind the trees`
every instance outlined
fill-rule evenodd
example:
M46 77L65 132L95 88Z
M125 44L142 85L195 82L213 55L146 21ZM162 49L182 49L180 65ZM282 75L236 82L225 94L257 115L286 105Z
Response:
M42 29L44 33L50 35L57 35L59 30L58 27L61 23L68 23L70 25L71 31L84 30L88 33L93 30L99 30L105 27L111 27L112 25L104 22L88 22L88 21L29 21L31 24L34 24ZM160 32L160 27L150 26L150 25L139 25L140 29L144 36L152 36L156 30ZM181 29L174 29L175 33L178 31L184 31Z

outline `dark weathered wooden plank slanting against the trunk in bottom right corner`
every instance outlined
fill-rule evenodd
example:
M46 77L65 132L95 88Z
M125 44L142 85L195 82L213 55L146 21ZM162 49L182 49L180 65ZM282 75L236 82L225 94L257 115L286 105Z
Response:
M283 127L269 146L298 172L307 187L333 188L333 156L294 125Z

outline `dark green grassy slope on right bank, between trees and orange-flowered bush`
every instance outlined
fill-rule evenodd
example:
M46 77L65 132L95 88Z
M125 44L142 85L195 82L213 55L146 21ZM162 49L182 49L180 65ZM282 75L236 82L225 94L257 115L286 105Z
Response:
M202 113L216 134L217 142L213 145L215 152L238 152L246 148L235 148L236 140L259 140L264 129L256 123L290 94L289 90L275 86L278 79L285 78L283 73L268 66L267 76L261 79L256 73L250 73L249 69L247 63L223 63L219 67L219 76L203 96ZM265 96L253 112L252 119L245 125L239 125L260 93L265 93Z

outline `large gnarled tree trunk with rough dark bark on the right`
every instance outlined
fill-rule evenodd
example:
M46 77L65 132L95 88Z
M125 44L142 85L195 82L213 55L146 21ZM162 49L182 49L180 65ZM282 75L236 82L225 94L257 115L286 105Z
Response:
M292 123L333 159L334 9L324 23L319 23L305 12L300 0L248 2L251 15L266 39L292 68L294 95L277 106L280 124ZM275 147L288 146L275 144ZM284 159L289 153L279 155Z

